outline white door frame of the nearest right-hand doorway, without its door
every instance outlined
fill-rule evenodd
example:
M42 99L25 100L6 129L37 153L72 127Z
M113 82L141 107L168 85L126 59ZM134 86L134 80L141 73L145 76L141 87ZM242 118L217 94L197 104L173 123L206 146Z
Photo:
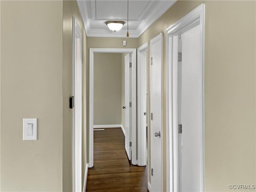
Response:
M201 189L204 191L204 4L201 4L166 29L166 189L176 191L178 186L178 135L177 123L177 63L178 48L173 49L173 38L200 25L202 46L202 141L201 141Z

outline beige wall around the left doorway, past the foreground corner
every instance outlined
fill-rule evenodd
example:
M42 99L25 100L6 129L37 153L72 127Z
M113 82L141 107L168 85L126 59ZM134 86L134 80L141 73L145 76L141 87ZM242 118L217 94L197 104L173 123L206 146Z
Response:
M73 110L69 108L68 100L73 95L72 76L72 23L73 16L76 18L82 32L82 78L83 91L86 91L86 34L82 18L80 16L76 1L63 1L63 191L72 191L72 115ZM83 101L86 101L86 94L83 93ZM82 184L84 183L84 171L86 166L86 102L83 103L82 122Z

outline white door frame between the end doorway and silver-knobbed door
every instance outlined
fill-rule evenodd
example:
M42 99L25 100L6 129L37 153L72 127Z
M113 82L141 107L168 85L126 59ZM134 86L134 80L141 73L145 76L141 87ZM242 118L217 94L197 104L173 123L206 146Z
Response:
M137 50L137 85L138 85L138 166L147 164L147 146L146 146L146 65L148 42L140 46Z

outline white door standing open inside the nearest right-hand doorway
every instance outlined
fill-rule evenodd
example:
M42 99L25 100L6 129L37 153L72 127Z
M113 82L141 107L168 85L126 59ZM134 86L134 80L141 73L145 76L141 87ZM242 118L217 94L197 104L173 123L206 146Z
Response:
M199 192L202 181L202 56L200 26L178 38L179 191ZM180 126L181 127L181 126Z

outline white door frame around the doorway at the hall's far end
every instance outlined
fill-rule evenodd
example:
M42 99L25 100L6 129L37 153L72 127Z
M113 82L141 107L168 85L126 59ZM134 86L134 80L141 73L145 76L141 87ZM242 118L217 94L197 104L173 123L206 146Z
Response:
M96 53L129 53L131 54L129 66L131 70L131 94L129 109L131 110L131 123L129 129L125 133L126 152L128 157L132 160L132 164L137 164L137 130L136 130L136 49L109 49L109 48L90 48L89 59L89 167L92 168L94 164L94 54ZM107 73L106 73L107 74ZM109 91L109 90L107 90ZM110 106L111 108L111 106ZM110 126L113 127L113 126ZM128 146L128 147L127 147ZM132 155L130 157L131 147Z

